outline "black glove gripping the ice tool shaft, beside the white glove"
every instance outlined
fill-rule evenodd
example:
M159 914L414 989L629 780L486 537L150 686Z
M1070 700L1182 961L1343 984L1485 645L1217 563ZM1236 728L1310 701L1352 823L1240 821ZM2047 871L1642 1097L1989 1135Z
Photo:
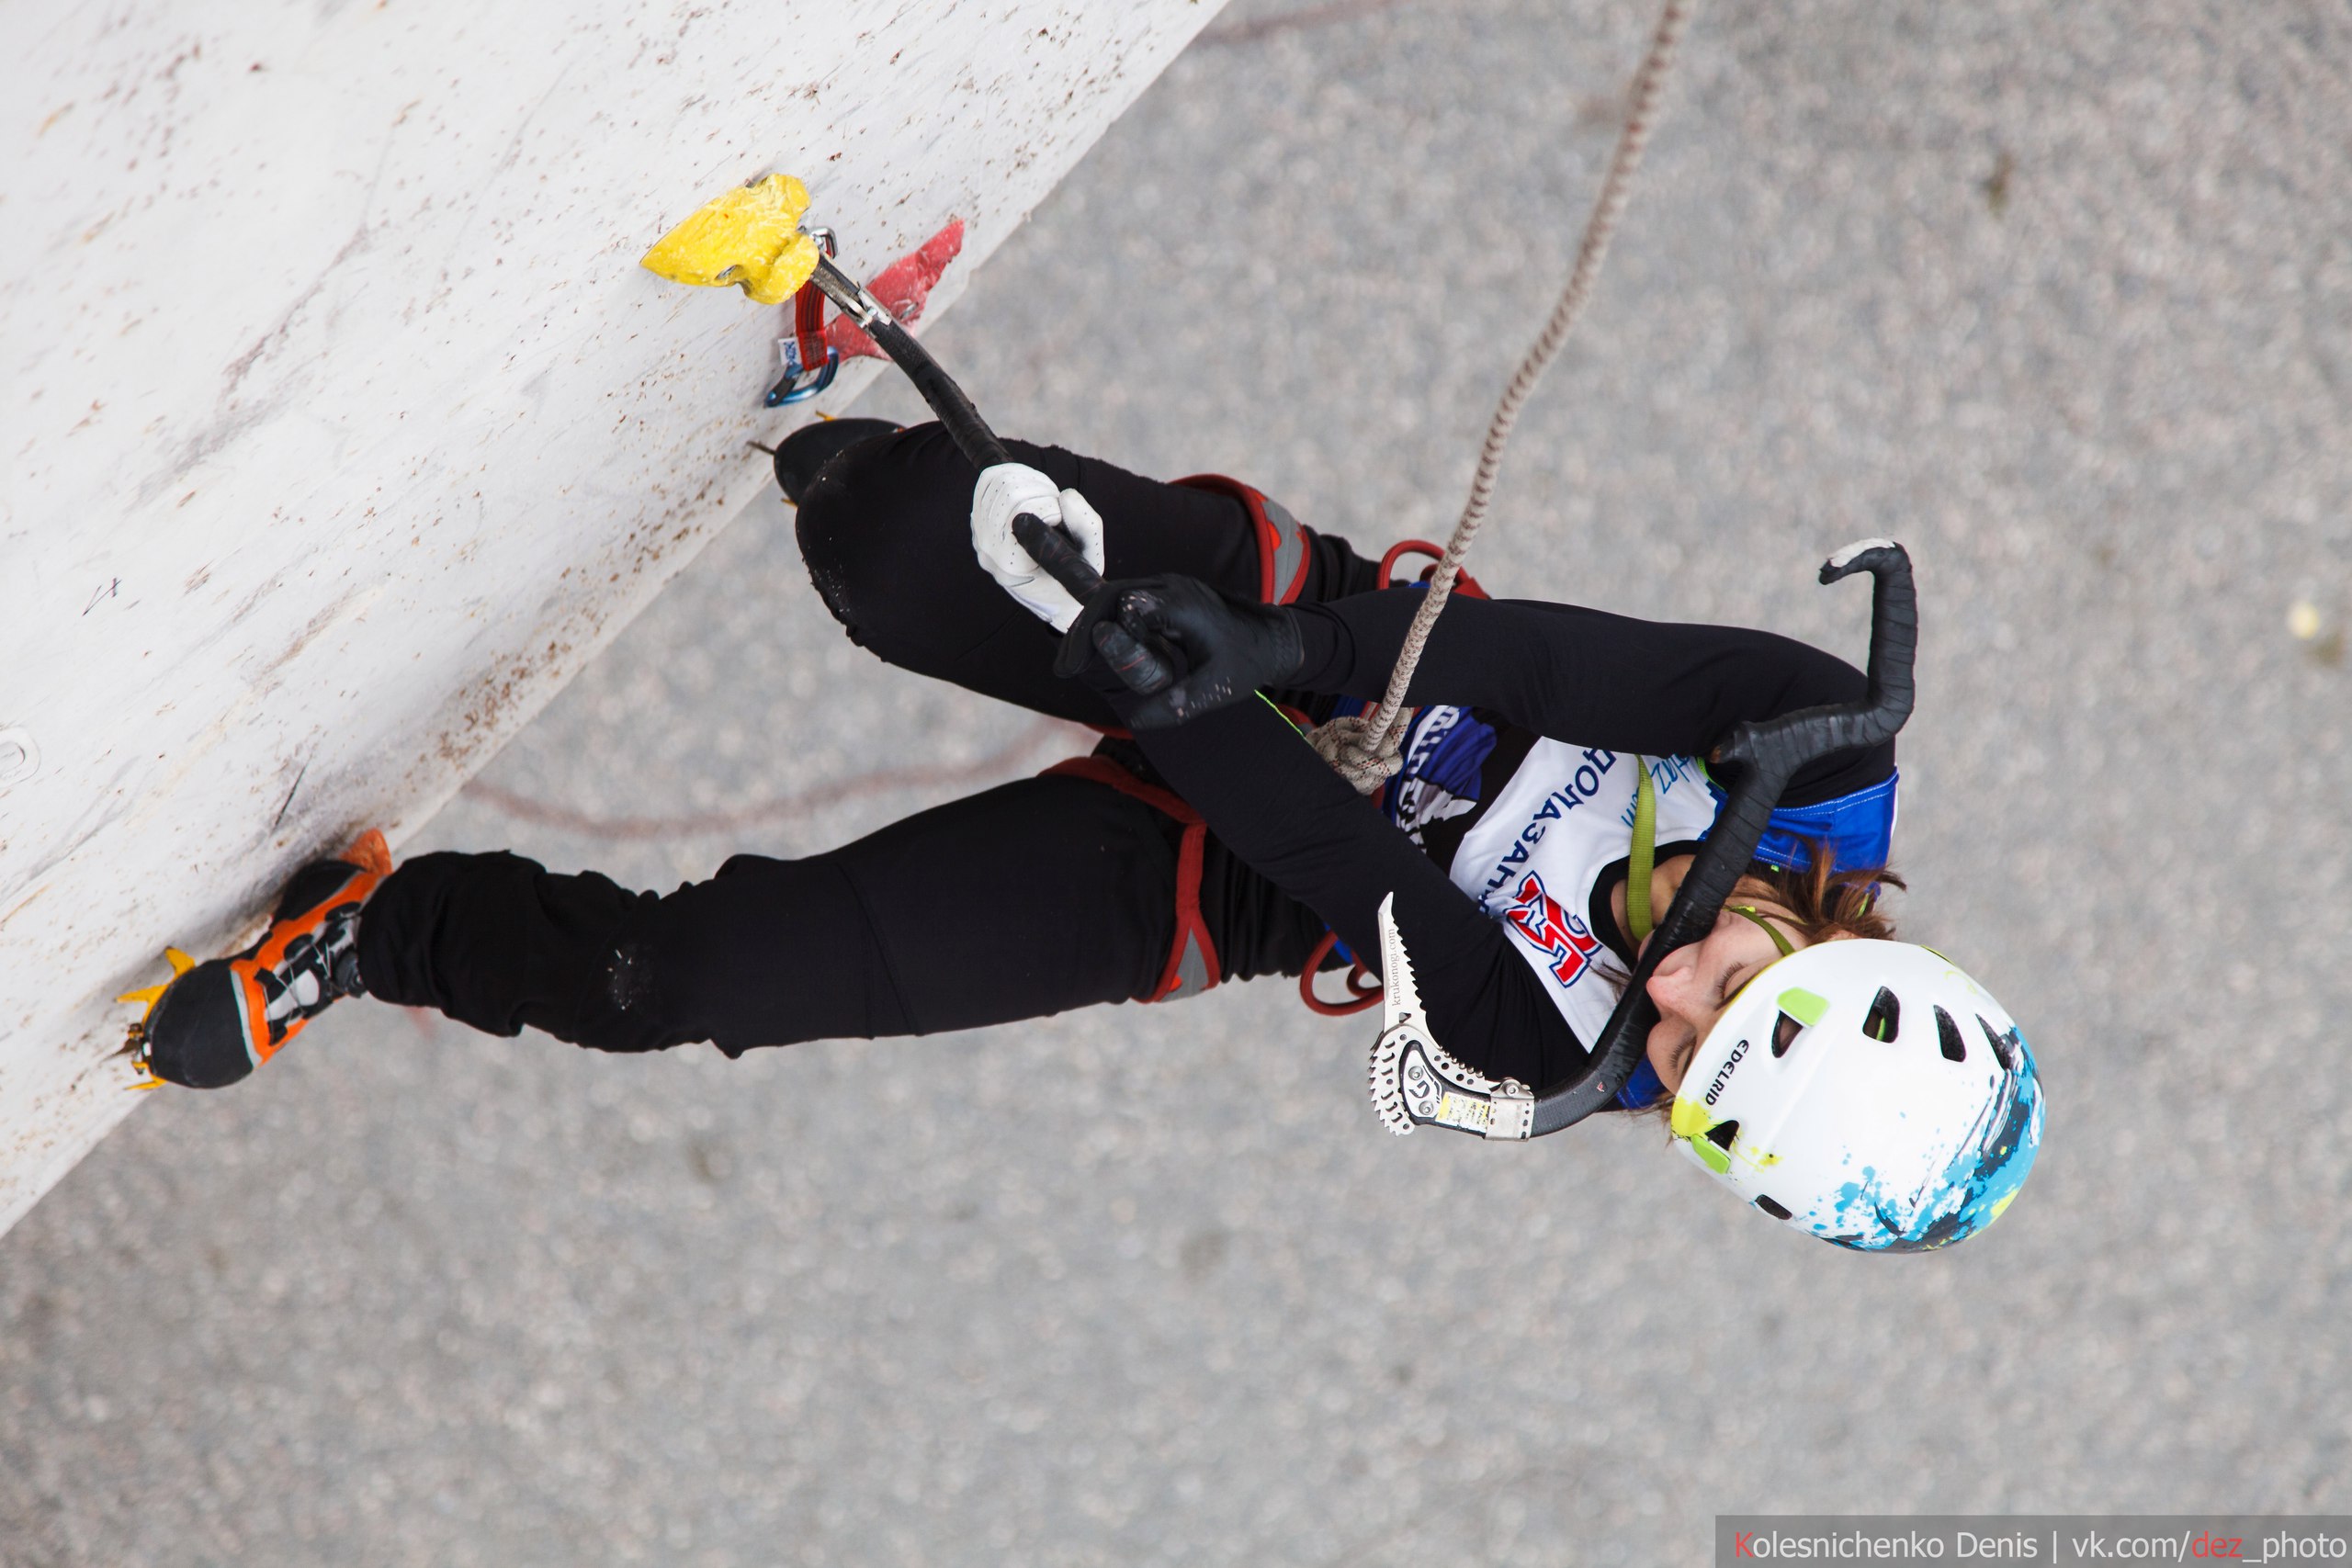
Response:
M1279 604L1247 604L1188 576L1105 583L1077 611L1054 668L1075 675L1094 649L1094 628L1117 618L1143 646L1174 646L1190 668L1129 710L1131 729L1167 729L1225 708L1298 672L1305 644Z

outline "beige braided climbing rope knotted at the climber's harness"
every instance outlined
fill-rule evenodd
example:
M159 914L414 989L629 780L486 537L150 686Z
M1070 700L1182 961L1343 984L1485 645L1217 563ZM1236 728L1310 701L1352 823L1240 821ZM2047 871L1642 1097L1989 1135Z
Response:
M1609 254L1609 240L1616 235L1618 216L1625 212L1635 169L1642 167L1642 150L1649 146L1658 94L1665 87L1668 68L1675 63L1675 47L1682 42L1686 12L1686 0L1665 0L1665 9L1658 14L1658 31L1651 33L1649 54L1632 78L1625 129L1618 132L1616 153L1609 158L1609 174L1602 179L1602 193L1595 197L1592 216L1585 221L1583 244L1576 249L1576 268L1569 273L1569 284L1559 292L1559 303L1552 306L1552 315L1543 322L1543 331L1536 334L1536 343L1519 360L1519 369L1512 374L1510 386L1503 388L1503 400L1486 423L1486 444L1477 454L1470 501L1463 503L1463 515L1454 524L1446 552L1430 574L1430 590L1423 595L1421 609L1414 611L1414 625L1404 632L1397 668L1388 677L1388 693L1371 712L1331 719L1308 731L1308 741L1322 759L1338 769L1338 776L1352 783L1359 795L1378 792L1402 766L1397 748L1404 743L1404 726L1411 722L1404 691L1414 684L1414 668L1430 642L1430 628L1437 625L1437 611L1446 607L1446 597L1454 592L1454 578L1461 574L1463 557L1470 555L1470 541L1477 538L1477 529L1486 520L1486 505L1494 501L1494 482L1503 468L1503 447L1510 442L1510 428L1519 423L1519 409L1536 390L1536 381L1543 378L1545 367L1559 355L1559 346L1569 341L1569 329L1576 327L1576 317L1585 313L1585 301L1592 296L1592 280L1602 270L1602 256Z

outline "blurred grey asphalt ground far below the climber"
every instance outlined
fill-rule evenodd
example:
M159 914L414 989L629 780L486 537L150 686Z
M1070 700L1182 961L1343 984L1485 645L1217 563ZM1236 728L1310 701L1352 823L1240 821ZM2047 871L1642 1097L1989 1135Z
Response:
M1004 430L1442 536L1651 9L1284 16L1228 12L931 341ZM2317 5L1703 7L1479 545L1858 658L1811 569L1910 543L1900 914L2051 1095L1983 1239L1835 1253L1646 1126L1388 1138L1371 1032L1284 985L741 1063L346 1006L0 1239L0 1561L1696 1563L1731 1509L2352 1509L2347 61ZM755 508L412 849L668 886L1056 755L866 661Z

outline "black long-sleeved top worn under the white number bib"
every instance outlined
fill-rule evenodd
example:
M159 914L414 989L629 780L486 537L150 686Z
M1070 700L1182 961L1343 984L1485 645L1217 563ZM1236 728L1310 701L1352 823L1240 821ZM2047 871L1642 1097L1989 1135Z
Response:
M1294 607L1305 658L1294 682L1378 701L1418 590ZM1771 632L1672 625L1531 599L1454 599L1414 675L1409 703L1489 715L1501 741L1484 762L1494 802L1536 738L1649 757L1703 755L1743 719L1769 719L1863 696L1860 670ZM1498 919L1449 879L1477 816L1416 846L1359 797L1265 703L1138 736L1152 766L1249 865L1315 910L1359 954L1376 954L1378 907L1395 893L1397 929L1430 1025L1446 1048L1494 1077L1552 1084L1585 1063L1543 973ZM1893 745L1809 764L1783 806L1884 785ZM1670 853L1675 846L1661 846ZM1621 957L1625 938L1602 931Z

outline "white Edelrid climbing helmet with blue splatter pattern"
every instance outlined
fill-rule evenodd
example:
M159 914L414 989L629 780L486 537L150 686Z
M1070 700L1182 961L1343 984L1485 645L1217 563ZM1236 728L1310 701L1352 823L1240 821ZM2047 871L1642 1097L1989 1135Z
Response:
M1917 1253L1992 1225L2042 1145L2016 1020L1912 943L1835 940L1764 969L1698 1044L1675 1138L1785 1225Z

